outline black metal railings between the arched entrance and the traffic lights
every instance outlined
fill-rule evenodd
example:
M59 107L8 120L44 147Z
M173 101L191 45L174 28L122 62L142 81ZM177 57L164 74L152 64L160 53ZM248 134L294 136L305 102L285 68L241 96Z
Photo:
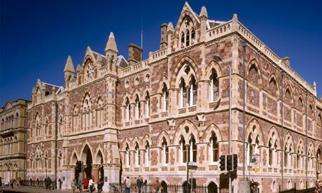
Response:
M189 190L187 191L186 185L165 185L161 184L160 190L158 192L153 192L152 185L146 184L141 188L141 193L214 193L217 190L211 190L211 188L206 185L195 185L191 189L189 185ZM119 183L110 183L110 192L113 193L124 193L125 185ZM130 192L139 192L137 185L132 184L130 188Z

